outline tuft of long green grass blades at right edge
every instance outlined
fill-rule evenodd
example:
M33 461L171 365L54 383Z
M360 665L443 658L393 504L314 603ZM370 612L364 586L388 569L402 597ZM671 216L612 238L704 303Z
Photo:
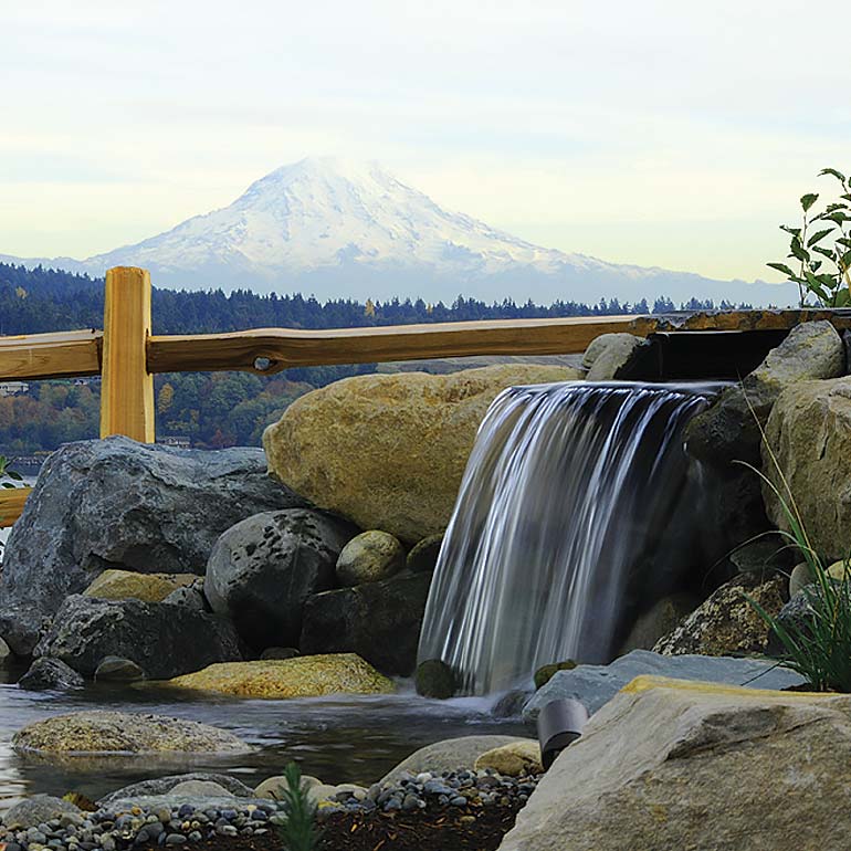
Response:
M763 434L765 442L765 434ZM788 623L769 614L756 600L746 599L779 639L784 647L784 664L797 671L819 692L851 692L851 564L843 561L841 578L831 576L810 544L807 528L795 503L789 484L768 443L768 454L780 480L781 488L756 467L750 467L773 491L782 508L790 532L781 530L801 553L813 577L805 588L808 611Z

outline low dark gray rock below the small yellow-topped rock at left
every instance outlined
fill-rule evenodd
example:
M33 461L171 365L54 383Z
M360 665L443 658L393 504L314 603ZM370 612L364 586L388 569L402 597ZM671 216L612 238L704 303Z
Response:
M35 655L60 659L85 676L105 656L123 656L154 680L242 659L233 627L223 618L166 602L82 595L65 600Z

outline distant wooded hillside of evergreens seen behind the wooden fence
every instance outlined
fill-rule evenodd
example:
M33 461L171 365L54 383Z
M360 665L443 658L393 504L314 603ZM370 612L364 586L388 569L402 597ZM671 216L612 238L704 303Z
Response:
M0 336L39 334L103 325L103 279L70 272L0 263ZM718 307L729 307L725 303ZM712 302L692 300L685 309L712 309ZM511 300L486 304L459 296L451 305L422 298L319 302L313 296L259 295L248 290L153 293L154 332L202 334L256 327L351 328L474 319L606 316L669 313L669 298L596 305L554 302L518 305ZM155 381L157 434L185 437L193 445L256 445L263 429L279 419L298 396L351 375L375 371L374 365L290 369L279 376L245 372L158 376ZM0 397L0 448L12 453L52 450L61 443L97 433L99 385L35 381L25 396Z

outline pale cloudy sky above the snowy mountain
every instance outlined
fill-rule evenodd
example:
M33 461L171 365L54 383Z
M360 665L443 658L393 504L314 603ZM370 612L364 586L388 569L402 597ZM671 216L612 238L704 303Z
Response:
M851 170L851 3L809 8L0 0L0 253L108 251L333 155L549 248L778 280L777 225Z

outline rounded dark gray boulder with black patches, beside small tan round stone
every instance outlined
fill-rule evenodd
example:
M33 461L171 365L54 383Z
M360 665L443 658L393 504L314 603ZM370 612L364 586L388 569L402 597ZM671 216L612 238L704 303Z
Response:
M340 550L356 534L345 521L305 508L249 517L216 543L204 595L254 650L297 644L305 601L334 587Z

